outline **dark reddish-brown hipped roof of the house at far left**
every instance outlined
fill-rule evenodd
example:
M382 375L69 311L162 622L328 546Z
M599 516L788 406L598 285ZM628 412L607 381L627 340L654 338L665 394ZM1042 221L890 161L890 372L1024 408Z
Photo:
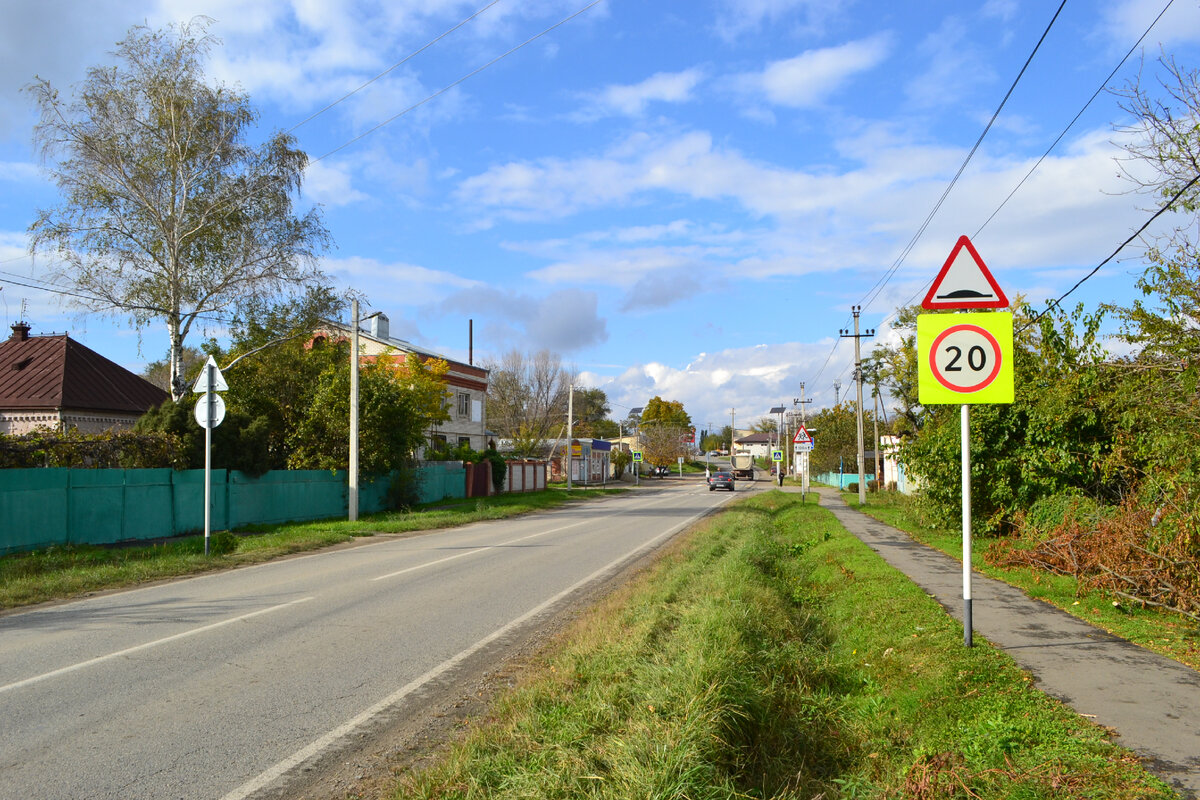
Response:
M142 413L167 392L70 336L0 342L0 409Z

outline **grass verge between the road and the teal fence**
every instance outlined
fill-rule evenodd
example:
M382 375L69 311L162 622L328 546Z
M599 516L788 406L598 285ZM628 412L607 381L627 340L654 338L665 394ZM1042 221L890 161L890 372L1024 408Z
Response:
M62 600L82 594L176 578L210 570L257 564L374 534L407 534L502 519L584 503L624 489L562 489L500 494L486 499L446 500L415 512L383 512L358 522L326 519L282 525L252 525L247 535L214 534L210 555L204 537L131 547L68 546L0 558L0 608Z

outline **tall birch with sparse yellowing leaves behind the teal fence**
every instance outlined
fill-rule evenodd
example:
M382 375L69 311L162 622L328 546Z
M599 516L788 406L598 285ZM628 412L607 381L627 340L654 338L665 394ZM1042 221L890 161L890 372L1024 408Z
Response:
M42 78L28 86L62 197L38 212L30 248L58 258L83 307L166 323L176 398L196 320L322 282L330 243L318 210L294 211L308 163L295 139L247 144L250 100L205 80L209 24L130 29L116 65L89 70L72 100Z

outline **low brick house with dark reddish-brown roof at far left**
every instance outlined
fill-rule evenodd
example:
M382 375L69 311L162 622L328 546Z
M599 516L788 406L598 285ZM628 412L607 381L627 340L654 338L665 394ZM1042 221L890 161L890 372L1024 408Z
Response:
M17 323L0 342L0 433L130 428L168 398L66 333L30 336L29 330Z

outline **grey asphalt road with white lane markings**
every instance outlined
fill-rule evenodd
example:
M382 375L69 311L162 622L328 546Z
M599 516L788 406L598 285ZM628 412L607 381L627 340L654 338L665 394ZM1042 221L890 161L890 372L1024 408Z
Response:
M740 494L642 483L0 618L0 799L277 796L430 681Z

